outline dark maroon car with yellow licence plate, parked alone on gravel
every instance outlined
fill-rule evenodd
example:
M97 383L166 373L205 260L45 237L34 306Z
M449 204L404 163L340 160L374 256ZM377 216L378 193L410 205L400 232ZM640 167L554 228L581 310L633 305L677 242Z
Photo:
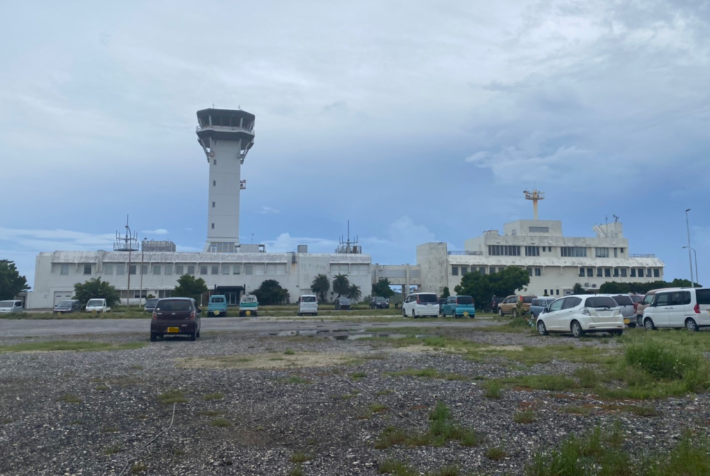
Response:
M202 309L191 297L168 297L159 299L151 320L151 342L158 337L188 336L190 341L200 337L200 314Z

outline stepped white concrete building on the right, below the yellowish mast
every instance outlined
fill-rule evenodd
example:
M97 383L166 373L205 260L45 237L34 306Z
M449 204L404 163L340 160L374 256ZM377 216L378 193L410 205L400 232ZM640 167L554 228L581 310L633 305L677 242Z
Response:
M595 225L596 236L562 236L562 222L518 220L506 223L503 234L486 231L464 243L464 250L448 250L446 243L417 246L422 291L454 294L467 272L488 274L508 266L528 270L525 292L543 296L571 294L575 283L599 289L608 281L652 282L663 279L664 263L654 255L629 253L621 222Z

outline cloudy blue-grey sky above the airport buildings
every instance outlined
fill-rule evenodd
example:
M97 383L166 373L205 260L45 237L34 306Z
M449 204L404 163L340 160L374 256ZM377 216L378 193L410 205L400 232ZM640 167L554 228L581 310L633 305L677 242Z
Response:
M0 258L202 250L195 111L256 114L242 242L373 262L532 218L710 282L708 1L121 1L0 6Z

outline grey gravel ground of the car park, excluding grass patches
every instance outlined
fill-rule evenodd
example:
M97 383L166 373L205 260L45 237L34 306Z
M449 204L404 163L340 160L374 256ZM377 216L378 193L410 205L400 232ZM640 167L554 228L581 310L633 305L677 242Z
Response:
M616 345L601 338L455 332L494 345ZM147 339L141 333L75 340ZM32 341L40 339L0 345ZM395 341L206 332L197 342L165 340L137 350L2 354L0 474L290 475L297 468L292 459L303 454L310 458L301 465L304 475L378 475L388 459L422 474L457 465L462 475L518 475L535 450L571 433L620 422L633 442L628 450L638 452L670 445L689 426L706 431L710 420L707 395L653 402L657 414L649 417L613 407L640 402L600 402L580 392L511 389L489 399L483 378L572 376L577 365L473 362L421 345L398 348ZM469 378L388 375L429 367ZM175 389L187 401L175 404L173 419L173 404L158 396ZM426 428L439 401L457 424L479 431L483 443L374 448L388 426L410 434ZM370 411L372 404L386 409ZM572 406L590 413L564 411ZM521 409L534 410L532 423L513 421ZM496 447L506 456L486 458Z

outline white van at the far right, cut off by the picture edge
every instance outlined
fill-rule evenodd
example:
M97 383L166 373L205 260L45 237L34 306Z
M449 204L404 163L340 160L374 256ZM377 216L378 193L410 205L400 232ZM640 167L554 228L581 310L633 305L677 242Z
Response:
M651 305L643 310L643 326L684 327L698 331L710 326L710 288L684 287L655 293Z

